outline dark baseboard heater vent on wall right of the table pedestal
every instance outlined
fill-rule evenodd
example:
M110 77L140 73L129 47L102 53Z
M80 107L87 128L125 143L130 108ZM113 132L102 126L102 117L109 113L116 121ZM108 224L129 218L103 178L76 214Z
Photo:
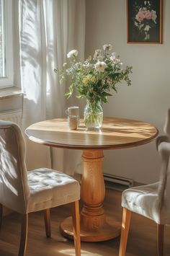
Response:
M128 187L133 186L133 180L126 179L124 177L116 175L108 175L107 173L103 174L105 186L109 189L114 190L125 190Z

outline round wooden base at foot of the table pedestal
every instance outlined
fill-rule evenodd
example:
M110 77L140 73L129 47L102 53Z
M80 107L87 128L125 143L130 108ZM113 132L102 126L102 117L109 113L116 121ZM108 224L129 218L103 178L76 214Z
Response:
M99 229L87 230L86 227L81 225L80 227L80 235L81 241L85 242L99 242L106 241L115 237L120 236L120 223L114 222L112 217L107 217L106 222L103 226L99 227ZM112 224L110 224L112 223ZM72 218L68 217L61 223L61 233L64 237L69 239L73 239L73 224Z

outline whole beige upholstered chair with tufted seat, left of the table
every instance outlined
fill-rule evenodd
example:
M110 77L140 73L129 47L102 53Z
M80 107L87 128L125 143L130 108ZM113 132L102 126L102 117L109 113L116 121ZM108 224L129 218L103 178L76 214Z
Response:
M27 172L25 150L19 126L0 120L0 214L5 206L22 215L18 255L24 255L27 246L28 213L44 210L46 236L50 237L50 208L66 203L72 205L74 245L76 256L81 255L79 182L53 169Z

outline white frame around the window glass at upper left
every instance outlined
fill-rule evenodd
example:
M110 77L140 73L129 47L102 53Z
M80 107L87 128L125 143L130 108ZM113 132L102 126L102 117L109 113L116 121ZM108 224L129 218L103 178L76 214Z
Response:
M12 0L3 1L5 14L6 77L0 78L0 89L14 86Z

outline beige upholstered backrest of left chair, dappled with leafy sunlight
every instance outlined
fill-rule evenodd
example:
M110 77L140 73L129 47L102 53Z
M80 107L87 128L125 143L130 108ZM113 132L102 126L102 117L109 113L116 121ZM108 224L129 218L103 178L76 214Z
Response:
M15 123L0 120L0 203L19 213L27 213L25 143Z

